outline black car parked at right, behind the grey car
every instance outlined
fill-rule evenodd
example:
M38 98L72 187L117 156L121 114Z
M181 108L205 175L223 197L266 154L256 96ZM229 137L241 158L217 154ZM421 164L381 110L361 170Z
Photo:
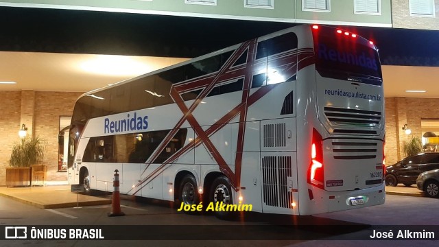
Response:
M439 169L439 152L408 156L385 168L385 185L396 186L402 183L409 187L416 183L419 174L433 169Z

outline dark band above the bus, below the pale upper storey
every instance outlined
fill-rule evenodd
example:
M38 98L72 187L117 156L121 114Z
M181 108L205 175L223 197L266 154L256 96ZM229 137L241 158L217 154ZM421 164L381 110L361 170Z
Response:
M0 8L0 23L2 51L188 58L294 25L6 7ZM383 64L439 66L439 31L377 27L342 28L374 40L379 47ZM398 57L399 60L396 59ZM410 57L419 59L414 60ZM406 64L407 62L411 64Z

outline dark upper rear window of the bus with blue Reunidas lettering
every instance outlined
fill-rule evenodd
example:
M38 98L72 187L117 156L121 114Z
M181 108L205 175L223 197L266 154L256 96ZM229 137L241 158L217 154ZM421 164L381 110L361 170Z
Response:
M381 85L378 51L366 39L333 28L321 28L313 34L320 75Z

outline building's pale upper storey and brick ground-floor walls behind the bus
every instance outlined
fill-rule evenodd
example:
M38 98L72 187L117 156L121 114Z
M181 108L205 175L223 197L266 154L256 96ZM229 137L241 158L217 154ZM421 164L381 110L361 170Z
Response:
M10 0L0 1L0 6L439 30L439 0ZM60 117L71 116L81 94L0 91L0 186L5 185L5 167L23 122L29 134L47 141L48 180L67 183L67 174L58 169ZM420 137L423 119L439 119L438 105L439 99L385 97L388 165L404 156L402 146L410 136L401 126L408 124L412 136Z

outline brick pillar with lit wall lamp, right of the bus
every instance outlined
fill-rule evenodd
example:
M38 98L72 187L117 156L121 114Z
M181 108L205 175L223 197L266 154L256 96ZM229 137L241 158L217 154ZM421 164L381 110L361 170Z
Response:
M396 148L398 152L398 161L405 156L404 141L407 141L407 134L403 130L404 124L407 124L407 102L405 97L396 97ZM410 127L410 126L409 126Z

